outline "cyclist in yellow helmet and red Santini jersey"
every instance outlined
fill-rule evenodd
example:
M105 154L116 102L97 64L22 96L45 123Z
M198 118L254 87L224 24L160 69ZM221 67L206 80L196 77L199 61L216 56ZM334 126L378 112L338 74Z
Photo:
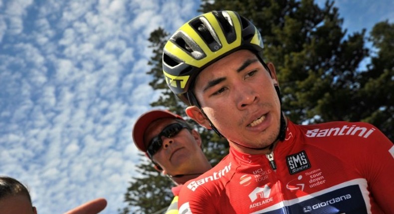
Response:
M291 122L262 50L257 28L234 11L199 15L165 45L169 88L230 145L183 186L180 213L394 213L393 143L364 122Z

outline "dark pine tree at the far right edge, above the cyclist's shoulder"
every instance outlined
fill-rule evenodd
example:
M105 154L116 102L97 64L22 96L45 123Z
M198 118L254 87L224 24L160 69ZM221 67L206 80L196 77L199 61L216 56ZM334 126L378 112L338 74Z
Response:
M360 120L375 124L394 141L394 24L377 23L370 36L376 48L367 71L360 74Z

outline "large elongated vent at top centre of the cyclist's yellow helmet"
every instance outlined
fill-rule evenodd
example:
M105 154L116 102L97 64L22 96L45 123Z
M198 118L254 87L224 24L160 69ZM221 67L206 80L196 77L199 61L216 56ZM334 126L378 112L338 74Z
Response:
M213 52L221 48L219 38L209 21L200 16L190 22L190 25L196 30L202 40L208 45L209 49Z

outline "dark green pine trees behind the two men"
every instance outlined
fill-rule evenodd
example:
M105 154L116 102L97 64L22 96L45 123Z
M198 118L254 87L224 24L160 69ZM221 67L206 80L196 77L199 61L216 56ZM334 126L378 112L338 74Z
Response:
M346 35L343 19L333 1L323 7L314 0L202 0L199 12L235 10L252 20L264 39L265 61L275 64L282 94L282 109L296 123L333 120L366 121L381 129L392 141L394 127L394 25L380 22L369 37L376 48L369 57L366 31ZM149 41L150 83L162 92L151 106L167 107L185 116L185 105L166 86L162 72L162 50L168 33L159 28ZM212 165L228 153L228 143L212 131L198 126L203 151ZM152 213L171 202L171 181L150 163L139 166L142 178L133 178L125 194L129 208Z

